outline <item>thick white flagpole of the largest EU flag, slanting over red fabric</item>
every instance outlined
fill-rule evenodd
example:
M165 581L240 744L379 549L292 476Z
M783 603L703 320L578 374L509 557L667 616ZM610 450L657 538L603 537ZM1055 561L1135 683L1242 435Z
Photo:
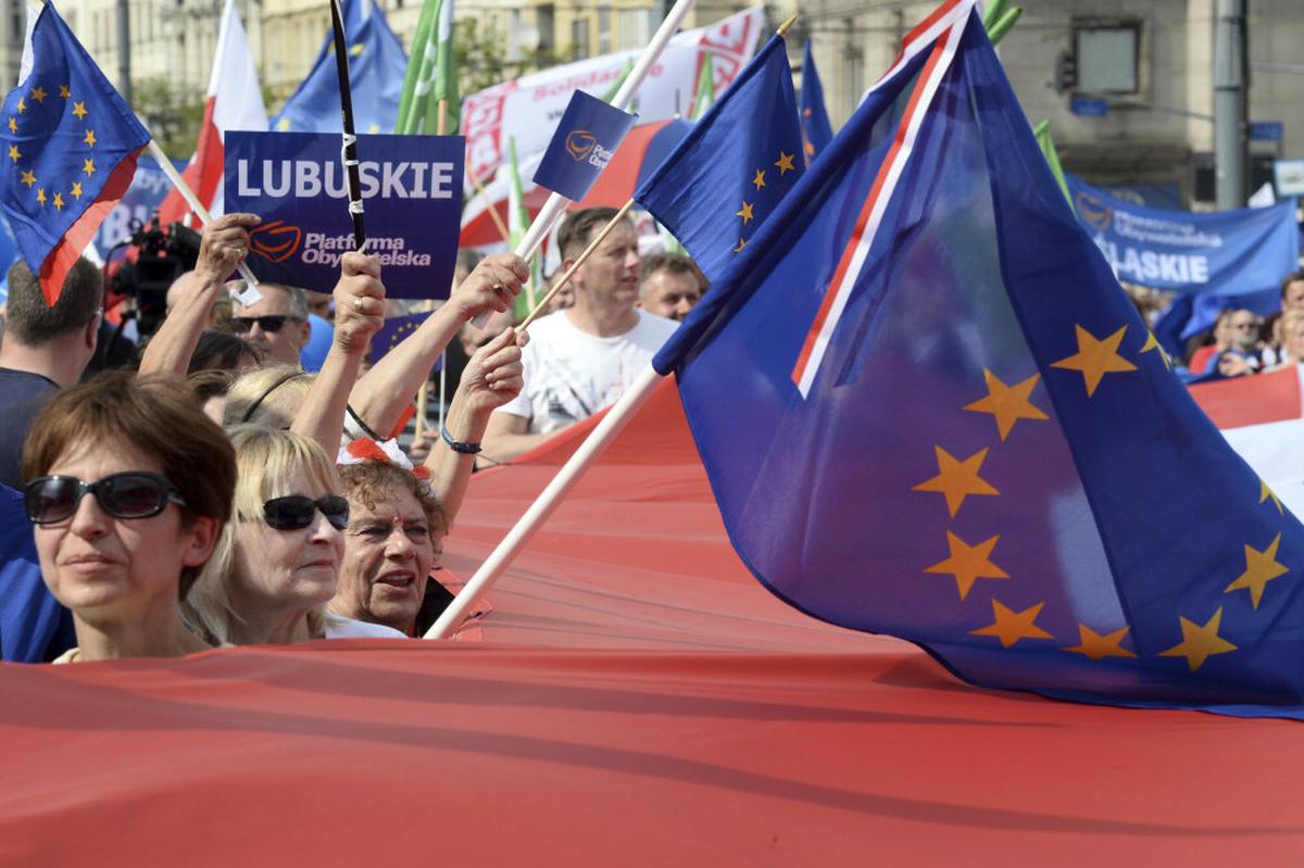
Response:
M449 607L439 615L439 619L430 626L430 629L425 632L425 639L447 639L452 635L452 631L462 623L463 618L467 616L485 592L498 581L507 564L526 547L529 538L548 520L548 516L553 514L561 499L570 493L575 482L579 481L579 477L588 469L588 465L602 454L612 438L621 433L621 429L643 407L660 382L661 374L656 373L652 365L648 365L639 374L639 378L625 391L621 400L615 401L602 421L597 424L597 427L580 443L575 454L570 456L570 460L562 465L562 469L548 484L544 493L529 504L526 515L520 516L520 520L507 532L507 536L498 543L498 547L480 564L480 568L471 576L471 581L454 597Z

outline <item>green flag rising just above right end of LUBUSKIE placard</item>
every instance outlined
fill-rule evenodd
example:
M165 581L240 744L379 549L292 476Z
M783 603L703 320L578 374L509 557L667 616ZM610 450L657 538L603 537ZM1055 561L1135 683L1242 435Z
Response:
M452 0L425 0L403 78L403 98L395 133L438 129L439 100L447 102L445 130L458 130L462 111L456 70L452 68Z

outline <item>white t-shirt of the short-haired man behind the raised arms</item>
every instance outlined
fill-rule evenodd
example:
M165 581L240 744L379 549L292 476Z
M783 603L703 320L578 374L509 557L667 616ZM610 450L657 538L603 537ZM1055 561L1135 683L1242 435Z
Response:
M565 310L539 319L522 352L526 387L497 412L524 416L531 434L548 434L614 404L679 326L638 314L639 323L615 338L580 331Z

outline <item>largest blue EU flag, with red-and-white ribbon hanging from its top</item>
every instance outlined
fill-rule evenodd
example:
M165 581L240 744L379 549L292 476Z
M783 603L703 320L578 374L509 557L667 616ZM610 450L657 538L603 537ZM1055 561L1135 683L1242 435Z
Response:
M1304 718L1304 525L1065 207L974 5L911 33L655 358L730 540L977 684Z

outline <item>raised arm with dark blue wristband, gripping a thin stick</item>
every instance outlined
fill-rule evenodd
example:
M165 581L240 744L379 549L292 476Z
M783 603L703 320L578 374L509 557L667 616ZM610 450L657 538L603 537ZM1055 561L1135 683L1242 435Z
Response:
M520 394L524 386L520 345L527 340L526 332L518 339L516 330L509 328L475 352L449 405L443 427L450 439L479 444L494 409ZM425 459L450 529L466 497L475 461L473 452L456 451L442 437Z

